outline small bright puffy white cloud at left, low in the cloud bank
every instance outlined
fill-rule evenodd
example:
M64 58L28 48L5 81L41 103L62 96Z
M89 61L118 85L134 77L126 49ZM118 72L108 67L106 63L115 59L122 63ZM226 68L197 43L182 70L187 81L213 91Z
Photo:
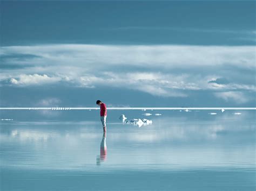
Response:
M19 85L32 85L32 84L45 84L45 83L54 83L58 82L61 79L59 77L50 77L46 74L39 75L39 74L22 74L18 77L18 79L11 78L10 82L12 84L19 84Z

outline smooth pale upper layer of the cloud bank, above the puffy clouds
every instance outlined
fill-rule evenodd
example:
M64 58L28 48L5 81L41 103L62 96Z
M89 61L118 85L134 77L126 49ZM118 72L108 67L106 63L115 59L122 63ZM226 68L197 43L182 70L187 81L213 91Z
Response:
M234 65L255 68L254 46L191 46L191 45L79 45L52 44L35 46L7 46L0 55L35 55L31 61L41 64L80 65L144 65L151 67L186 67ZM11 60L11 59L10 59ZM28 60L12 60L27 63ZM45 63L49 61L48 63ZM92 63L97 64L90 65Z

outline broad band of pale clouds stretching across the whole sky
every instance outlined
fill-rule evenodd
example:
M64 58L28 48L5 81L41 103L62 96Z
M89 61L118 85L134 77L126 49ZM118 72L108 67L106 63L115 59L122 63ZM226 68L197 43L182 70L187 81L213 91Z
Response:
M207 90L239 103L256 91L255 46L48 44L5 46L0 55L5 66L13 66L1 71L2 86L62 83L164 97Z

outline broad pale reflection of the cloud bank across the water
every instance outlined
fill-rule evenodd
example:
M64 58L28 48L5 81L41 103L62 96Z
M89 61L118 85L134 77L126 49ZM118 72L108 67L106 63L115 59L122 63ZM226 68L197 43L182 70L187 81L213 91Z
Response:
M250 138L255 135L255 124L245 125L246 121L242 121L245 115L238 117L232 112L214 118L208 116L207 112L205 115L211 121L156 117L152 125L142 129L110 123L107 135L110 153L104 161L104 168L173 169L254 165L255 140ZM102 129L98 123L95 126L79 124L78 127L70 123L62 126L31 126L18 125L1 131L1 146L12 145L13 150L9 154L18 156L15 158L4 153L1 160L5 166L103 170L100 167L95 169L96 156L100 151L104 154L104 149L100 150L104 148L104 140L102 147Z

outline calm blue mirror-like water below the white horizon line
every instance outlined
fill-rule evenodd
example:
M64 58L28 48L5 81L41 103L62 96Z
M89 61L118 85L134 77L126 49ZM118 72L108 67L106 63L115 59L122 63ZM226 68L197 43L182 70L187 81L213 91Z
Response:
M98 112L1 111L1 190L256 188L255 111Z

